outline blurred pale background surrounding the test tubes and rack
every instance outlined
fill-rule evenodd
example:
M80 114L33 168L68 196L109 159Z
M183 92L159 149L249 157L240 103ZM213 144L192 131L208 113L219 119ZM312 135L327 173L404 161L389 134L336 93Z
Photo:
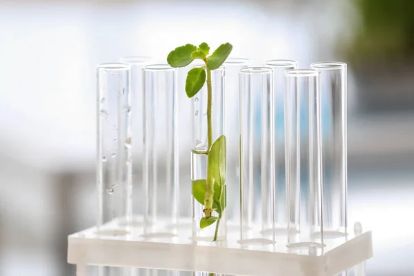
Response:
M75 275L67 235L92 226L97 210L97 63L162 62L202 41L230 41L253 65L348 63L350 220L373 230L368 275L414 275L410 0L0 0L0 275ZM190 103L179 102L186 132Z

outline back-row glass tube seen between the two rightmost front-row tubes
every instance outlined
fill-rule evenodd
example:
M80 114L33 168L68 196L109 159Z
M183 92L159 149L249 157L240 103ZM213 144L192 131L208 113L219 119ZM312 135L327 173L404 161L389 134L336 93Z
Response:
M273 59L264 66L273 69L275 109L275 233L286 235L288 228L285 176L284 90L286 70L297 69L297 61Z

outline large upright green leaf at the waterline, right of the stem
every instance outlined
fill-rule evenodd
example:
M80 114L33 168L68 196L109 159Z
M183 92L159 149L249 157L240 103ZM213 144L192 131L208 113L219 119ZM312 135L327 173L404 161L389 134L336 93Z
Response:
M208 152L208 171L219 186L226 182L226 136L221 135Z

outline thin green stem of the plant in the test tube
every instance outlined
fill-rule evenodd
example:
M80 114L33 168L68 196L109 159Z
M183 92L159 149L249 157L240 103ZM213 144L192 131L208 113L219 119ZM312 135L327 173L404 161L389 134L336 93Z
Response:
M213 130L211 122L212 109L212 88L211 88L211 70L207 68L207 136L208 150L213 146ZM211 217L213 213L213 196L214 196L214 179L211 177L207 166L206 196L204 197L204 217Z

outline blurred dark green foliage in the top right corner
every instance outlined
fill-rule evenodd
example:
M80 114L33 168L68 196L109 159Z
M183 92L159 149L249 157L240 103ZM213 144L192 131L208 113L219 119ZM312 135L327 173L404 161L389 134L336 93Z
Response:
M348 45L354 63L414 57L414 0L354 0L362 26Z

